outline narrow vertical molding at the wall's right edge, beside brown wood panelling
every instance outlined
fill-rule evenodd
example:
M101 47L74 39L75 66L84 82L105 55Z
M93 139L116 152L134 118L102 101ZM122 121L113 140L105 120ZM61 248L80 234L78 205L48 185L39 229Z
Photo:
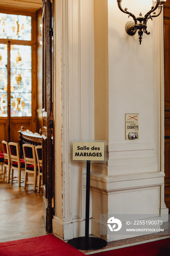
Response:
M157 136L158 169L164 171L164 50L163 8L161 15L153 19L153 80L155 98L155 135Z

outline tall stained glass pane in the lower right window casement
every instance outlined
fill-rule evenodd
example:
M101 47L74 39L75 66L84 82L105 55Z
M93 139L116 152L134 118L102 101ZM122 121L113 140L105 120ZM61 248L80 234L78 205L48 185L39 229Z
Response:
M11 117L31 116L31 46L11 45Z

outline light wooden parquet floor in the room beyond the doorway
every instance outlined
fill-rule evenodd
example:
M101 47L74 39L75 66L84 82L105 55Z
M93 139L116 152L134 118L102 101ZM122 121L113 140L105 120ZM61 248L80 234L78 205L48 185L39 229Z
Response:
M0 242L48 234L42 216L43 192L33 191L32 178L29 175L30 185L24 189L17 178L11 185L0 175Z

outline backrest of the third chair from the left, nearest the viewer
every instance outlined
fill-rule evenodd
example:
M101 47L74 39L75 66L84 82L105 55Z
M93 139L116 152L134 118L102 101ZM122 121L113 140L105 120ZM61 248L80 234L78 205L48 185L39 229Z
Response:
M26 169L29 165L33 165L34 170L36 170L37 166L36 166L35 146L31 144L23 144L23 152L24 152Z

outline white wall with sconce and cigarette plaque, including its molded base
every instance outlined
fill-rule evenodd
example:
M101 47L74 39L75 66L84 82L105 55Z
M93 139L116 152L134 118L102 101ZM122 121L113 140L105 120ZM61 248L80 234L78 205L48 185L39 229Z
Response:
M148 7L149 1L140 1L139 7L137 2L123 0L122 7L136 16L141 8L151 9L152 1ZM92 234L107 241L126 236L101 236L100 214L168 214L163 192L164 102L160 101L162 16L155 19L148 20L150 35L143 34L139 45L138 33L125 32L132 18L119 10L116 0L108 1L108 162L94 164L91 174ZM139 140L125 140L126 113L139 114Z

